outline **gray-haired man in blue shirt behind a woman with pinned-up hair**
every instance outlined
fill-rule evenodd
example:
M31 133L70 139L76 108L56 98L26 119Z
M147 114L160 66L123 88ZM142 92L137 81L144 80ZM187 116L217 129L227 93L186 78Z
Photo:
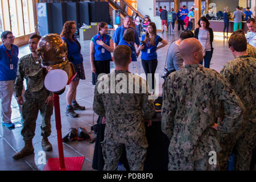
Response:
M131 42L131 46L135 49L134 43L137 44L137 48L139 47L139 36L137 31L131 27L131 16L125 16L125 19L123 19L123 25L121 27L118 27L117 30L115 30L114 35L113 35L113 43L114 43L114 48L118 46L118 44L121 42L123 39L123 33L127 28L132 28L134 30L134 38L135 42ZM137 57L139 56L140 51L137 52Z

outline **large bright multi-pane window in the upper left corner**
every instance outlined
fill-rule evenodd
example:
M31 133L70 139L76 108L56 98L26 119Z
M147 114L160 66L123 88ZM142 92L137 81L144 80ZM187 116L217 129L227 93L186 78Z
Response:
M35 32L33 0L0 0L0 31L14 36Z

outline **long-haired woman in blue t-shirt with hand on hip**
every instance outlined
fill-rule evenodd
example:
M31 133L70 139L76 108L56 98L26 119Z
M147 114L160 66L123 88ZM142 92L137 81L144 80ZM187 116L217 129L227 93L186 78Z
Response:
M150 22L148 24L147 32L145 35L142 36L142 41L144 41L144 44L141 44L141 46L139 46L138 48L140 51L142 51L142 67L144 69L144 72L146 73L146 78L148 73L152 73L152 87L150 88L154 89L154 73L158 65L158 55L156 54L156 51L166 46L168 43L166 42L166 40L156 35L156 26L154 22ZM162 43L162 45L158 46L159 42Z

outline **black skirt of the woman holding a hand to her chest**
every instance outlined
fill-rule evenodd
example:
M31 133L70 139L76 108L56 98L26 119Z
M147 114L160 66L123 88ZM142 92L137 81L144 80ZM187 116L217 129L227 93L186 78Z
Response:
M110 60L106 60L106 61L97 61L94 60L94 67L96 68L96 73L92 73L92 84L96 85L97 82L97 78L98 75L100 75L101 73L110 73Z

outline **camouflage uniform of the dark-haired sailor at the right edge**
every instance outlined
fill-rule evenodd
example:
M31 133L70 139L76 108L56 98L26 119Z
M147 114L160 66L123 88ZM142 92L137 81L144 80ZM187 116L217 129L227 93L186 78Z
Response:
M248 46L248 45L247 45ZM232 153L232 148L236 144L236 167L237 170L249 170L253 149L256 139L256 62L255 58L250 56L238 56L229 61L221 70L224 76L232 85L243 105L245 105L244 125L236 133L236 138L226 136L222 138L221 145L226 148L224 155L225 166L228 168L228 158ZM227 143L229 142L229 144Z

